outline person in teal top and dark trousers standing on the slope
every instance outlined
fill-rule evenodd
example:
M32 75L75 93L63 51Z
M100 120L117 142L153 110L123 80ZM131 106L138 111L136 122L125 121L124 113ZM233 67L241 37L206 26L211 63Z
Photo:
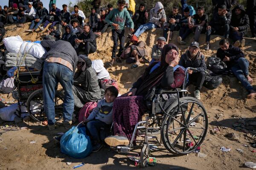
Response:
M117 56L120 57L122 51L125 46L125 23L128 23L131 26L130 31L134 31L134 23L131 19L129 12L125 7L125 0L118 0L117 2L118 8L113 9L108 16L106 17L105 21L111 25L112 28L112 38L113 38L113 49L112 49L112 60L109 63L110 66L113 65L114 58L116 57L116 49L118 46L118 39L120 41L120 48L118 51Z

